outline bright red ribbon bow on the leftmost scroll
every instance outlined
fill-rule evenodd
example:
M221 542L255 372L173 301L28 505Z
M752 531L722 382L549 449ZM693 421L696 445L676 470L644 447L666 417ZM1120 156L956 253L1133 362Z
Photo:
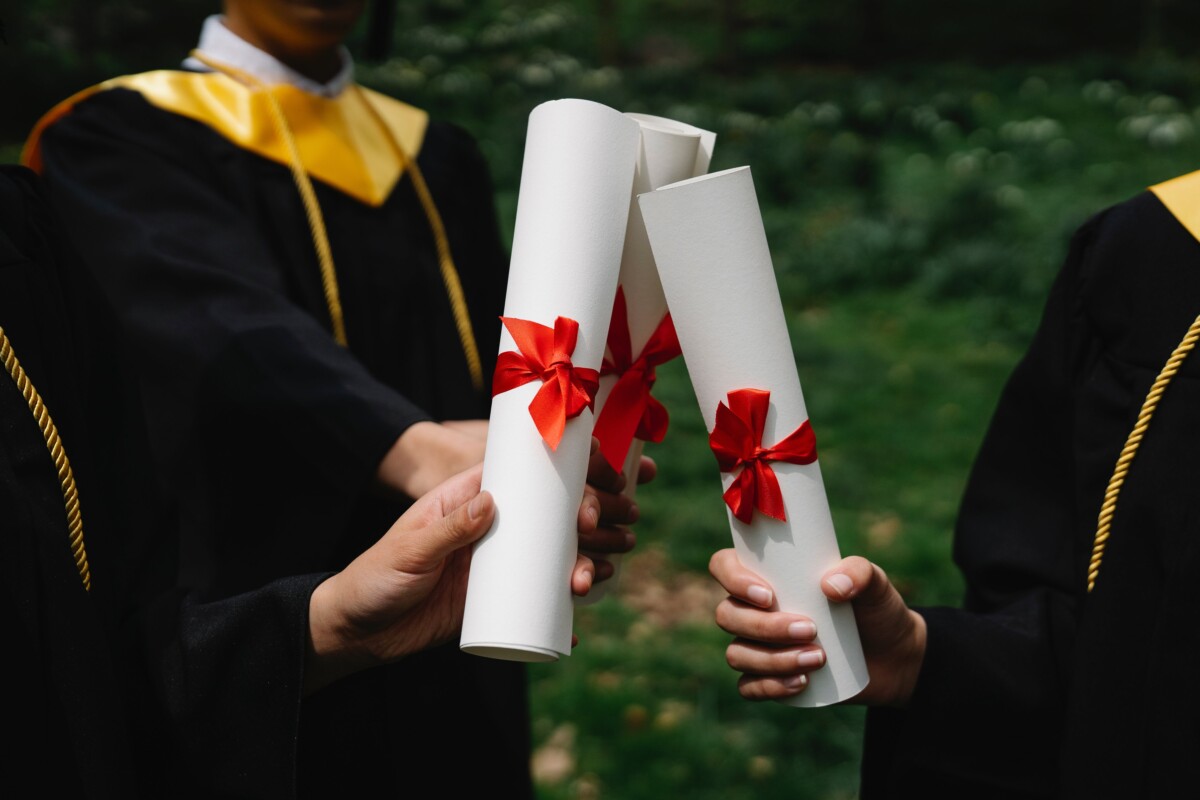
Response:
M517 350L505 350L496 361L492 397L532 380L542 381L529 403L529 416L551 450L558 450L566 421L595 404L600 375L595 369L571 363L580 324L559 317L550 329L527 319L500 317Z

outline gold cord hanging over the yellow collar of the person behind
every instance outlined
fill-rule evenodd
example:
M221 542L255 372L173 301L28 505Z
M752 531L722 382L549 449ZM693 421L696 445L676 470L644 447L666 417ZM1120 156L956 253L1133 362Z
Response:
M295 138L292 134L292 127L288 125L278 100L276 100L274 92L271 92L270 89L263 84L263 82L258 80L253 76L234 70L223 64L217 64L198 50L192 50L192 56L209 68L262 90L263 94L266 95L269 107L271 109L271 118L288 151L288 167L292 170L292 179L295 181L296 188L300 192L300 199L304 201L305 213L308 217L308 229L312 231L313 245L317 248L317 260L320 264L322 285L325 291L325 305L329 308L329 318L334 327L334 338L344 347L347 343L346 323L342 314L342 301L337 287L337 275L334 269L334 255L329 247L329 234L325 231L325 221L320 212L320 204L317 201L317 194L313 192L312 181L308 178L308 173L304 169L300 160L300 151L296 148ZM354 89L358 91L358 85L354 85ZM421 201L421 209L425 211L425 217L433 233L433 241L438 253L438 266L442 270L442 281L445 283L446 293L450 297L450 308L454 312L455 327L458 330L458 338L462 342L463 355L467 359L467 368L470 371L470 383L476 390L482 390L484 373L479 359L479 348L475 344L475 333L470 325L470 314L467 311L467 300L463 296L462 282L458 279L458 271L455 269L454 259L450 254L450 245L446 241L445 228L442 224L442 216L438 213L437 206L433 204L433 198L425 184L425 178L416 167L416 161L409 158L403 148L400 146L400 142L396 140L391 128L386 125L386 122L384 122L383 118L379 116L379 112L376 110L374 106L371 104L367 97L360 92L359 100L367 107L379 127L383 128L383 133L388 138L391 148L395 150L401 164L407 166L409 169L413 187L416 190L416 196Z

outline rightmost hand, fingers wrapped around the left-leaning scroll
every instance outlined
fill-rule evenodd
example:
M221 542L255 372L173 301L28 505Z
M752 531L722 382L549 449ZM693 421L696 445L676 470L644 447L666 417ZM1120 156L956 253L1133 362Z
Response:
M716 624L737 637L725 658L742 673L742 697L780 700L803 692L809 673L826 662L812 620L779 610L774 589L742 566L733 549L714 554L708 571L730 593L716 607ZM853 607L871 676L866 688L845 702L907 705L925 656L925 619L905 604L883 570L864 558L844 559L821 579L821 591L832 603Z

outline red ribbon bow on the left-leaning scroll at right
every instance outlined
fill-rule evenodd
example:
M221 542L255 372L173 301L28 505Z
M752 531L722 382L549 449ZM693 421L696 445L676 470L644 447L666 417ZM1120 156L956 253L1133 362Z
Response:
M730 404L716 405L716 425L708 434L708 446L716 455L722 473L742 471L725 492L725 504L733 516L749 523L755 506L768 517L786 521L784 494L779 479L767 462L811 464L817 459L817 440L812 426L805 420L782 441L762 446L762 428L767 422L770 392L761 389L738 389L730 392Z

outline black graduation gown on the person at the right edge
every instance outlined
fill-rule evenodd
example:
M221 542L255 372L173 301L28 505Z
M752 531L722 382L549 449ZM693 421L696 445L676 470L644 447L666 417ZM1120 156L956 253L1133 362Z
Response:
M868 715L862 796L1194 796L1200 786L1200 356L1174 378L1116 506L1105 486L1200 313L1200 242L1146 192L1075 235L974 464L965 609L919 609L906 711Z

